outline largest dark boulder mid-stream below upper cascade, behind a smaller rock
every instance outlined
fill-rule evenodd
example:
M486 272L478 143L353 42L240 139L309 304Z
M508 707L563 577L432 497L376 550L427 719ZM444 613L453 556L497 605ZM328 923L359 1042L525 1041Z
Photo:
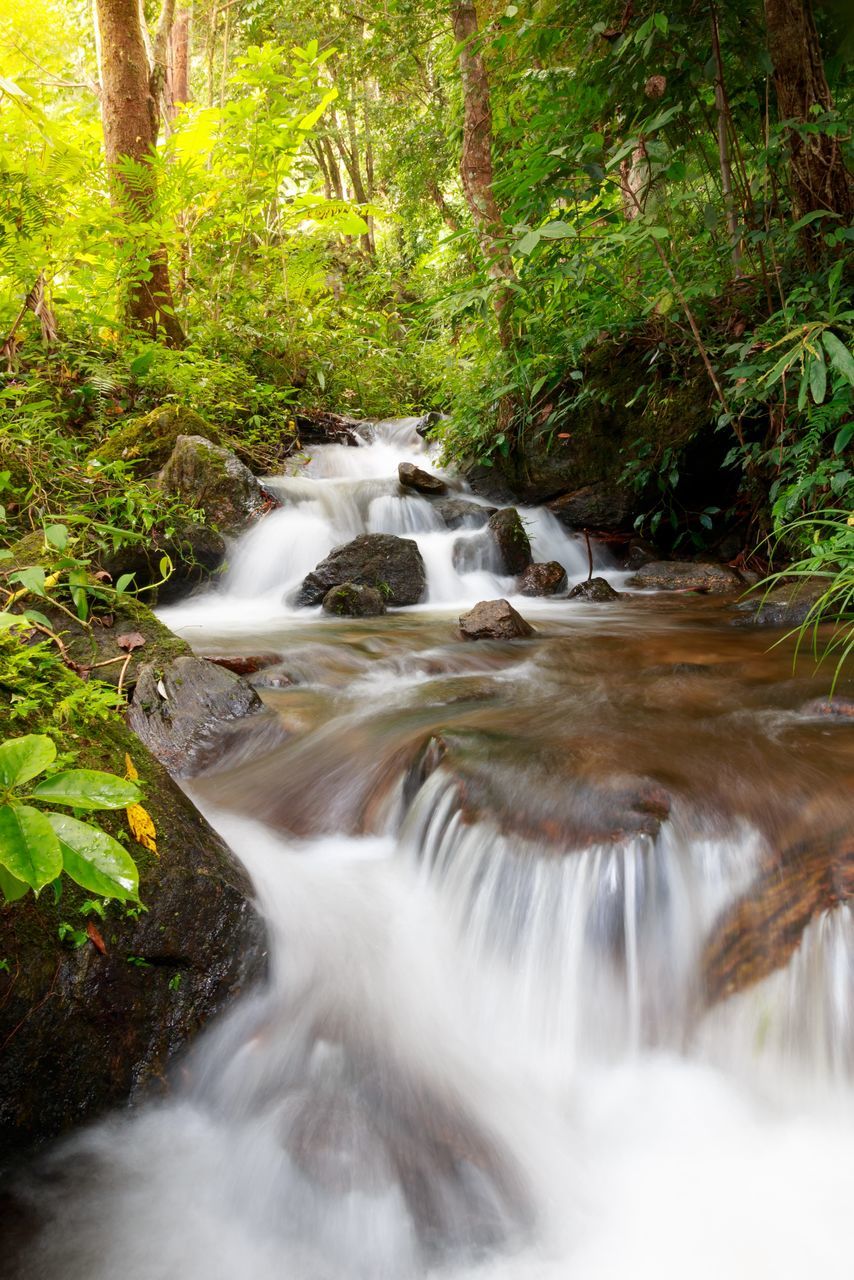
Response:
M426 570L417 544L394 534L361 534L335 547L300 588L297 604L320 604L343 582L373 586L389 604L417 604L426 589Z

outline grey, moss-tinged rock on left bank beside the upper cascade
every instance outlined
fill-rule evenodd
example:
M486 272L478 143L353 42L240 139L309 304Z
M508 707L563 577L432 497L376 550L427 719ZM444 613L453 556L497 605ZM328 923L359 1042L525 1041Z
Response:
M265 509L264 490L250 468L201 435L178 436L156 485L202 508L207 522L224 534L239 534Z

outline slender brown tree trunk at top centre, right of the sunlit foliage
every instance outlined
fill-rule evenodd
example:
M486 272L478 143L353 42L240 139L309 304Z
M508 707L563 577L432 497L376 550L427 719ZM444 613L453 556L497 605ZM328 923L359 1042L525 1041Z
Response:
M455 40L460 46L460 77L462 79L463 120L460 177L478 230L480 247L487 259L487 270L497 282L494 307L498 320L498 338L507 351L513 342L510 323L512 289L507 282L515 280L516 273L504 243L504 228L493 191L489 81L483 56L476 47L478 10L472 0L461 0L461 3L453 4L451 19Z

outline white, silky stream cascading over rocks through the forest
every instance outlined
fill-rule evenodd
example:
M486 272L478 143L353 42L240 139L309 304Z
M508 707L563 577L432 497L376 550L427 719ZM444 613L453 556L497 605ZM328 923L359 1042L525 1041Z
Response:
M827 677L729 602L515 595L402 461L437 470L415 420L312 449L225 580L161 611L198 654L275 657L252 678L284 735L248 721L188 787L270 978L168 1101L54 1149L22 1280L850 1280L854 732L808 709ZM289 603L365 531L417 541L421 604ZM498 596L535 635L463 643Z

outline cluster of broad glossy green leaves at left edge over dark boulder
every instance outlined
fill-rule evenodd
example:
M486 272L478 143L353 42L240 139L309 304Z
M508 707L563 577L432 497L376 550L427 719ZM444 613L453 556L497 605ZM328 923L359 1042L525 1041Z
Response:
M63 769L28 786L55 760L56 745L44 733L0 742L0 888L6 901L29 888L38 896L63 872L91 893L138 897L136 864L117 840L72 814L36 808L120 809L138 801L138 787L97 769Z

